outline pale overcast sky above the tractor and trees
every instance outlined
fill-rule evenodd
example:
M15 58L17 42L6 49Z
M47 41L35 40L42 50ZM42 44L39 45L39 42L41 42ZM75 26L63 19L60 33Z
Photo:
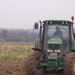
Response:
M0 0L0 28L33 28L39 20L71 20L75 0Z

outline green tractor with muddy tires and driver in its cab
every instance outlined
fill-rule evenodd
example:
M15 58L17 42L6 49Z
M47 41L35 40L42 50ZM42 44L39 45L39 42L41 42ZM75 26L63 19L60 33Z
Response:
M26 57L25 68L28 75L75 75L74 17L67 20L45 20L40 25L39 39L34 51Z

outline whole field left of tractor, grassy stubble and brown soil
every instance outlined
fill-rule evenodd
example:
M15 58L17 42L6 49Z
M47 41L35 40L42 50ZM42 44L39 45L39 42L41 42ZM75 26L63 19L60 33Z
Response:
M32 42L0 42L0 75L27 75L25 57L33 47Z

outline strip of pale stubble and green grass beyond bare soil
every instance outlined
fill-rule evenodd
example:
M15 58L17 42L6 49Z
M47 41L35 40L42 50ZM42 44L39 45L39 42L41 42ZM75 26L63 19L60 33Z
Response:
M33 47L32 42L0 42L0 59L25 59Z

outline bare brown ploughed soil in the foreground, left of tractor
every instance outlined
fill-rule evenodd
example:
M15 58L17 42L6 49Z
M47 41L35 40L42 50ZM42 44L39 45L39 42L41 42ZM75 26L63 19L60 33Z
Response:
M0 60L0 75L27 75L24 64L24 60Z

